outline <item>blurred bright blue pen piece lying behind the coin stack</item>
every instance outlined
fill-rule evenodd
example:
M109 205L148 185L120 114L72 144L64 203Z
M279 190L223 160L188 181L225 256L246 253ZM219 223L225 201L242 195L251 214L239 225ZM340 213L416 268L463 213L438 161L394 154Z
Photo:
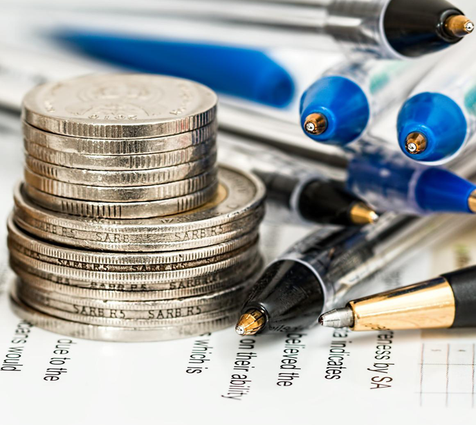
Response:
M262 51L81 30L66 30L55 38L101 60L187 78L265 105L285 107L293 99L291 75Z

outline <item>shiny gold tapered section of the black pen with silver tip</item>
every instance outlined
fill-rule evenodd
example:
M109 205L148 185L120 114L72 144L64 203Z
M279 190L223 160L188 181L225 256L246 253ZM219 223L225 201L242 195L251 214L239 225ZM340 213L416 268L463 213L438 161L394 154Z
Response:
M444 278L360 298L347 305L354 314L354 331L451 327L455 296Z

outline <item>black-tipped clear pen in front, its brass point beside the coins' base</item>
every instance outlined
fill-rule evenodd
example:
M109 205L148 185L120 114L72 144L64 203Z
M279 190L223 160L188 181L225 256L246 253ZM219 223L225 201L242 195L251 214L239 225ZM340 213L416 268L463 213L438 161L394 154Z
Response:
M235 330L239 335L295 332L318 323L376 271L410 248L439 243L467 219L383 215L363 228L322 228L269 264L251 289ZM409 252L410 251L410 252Z

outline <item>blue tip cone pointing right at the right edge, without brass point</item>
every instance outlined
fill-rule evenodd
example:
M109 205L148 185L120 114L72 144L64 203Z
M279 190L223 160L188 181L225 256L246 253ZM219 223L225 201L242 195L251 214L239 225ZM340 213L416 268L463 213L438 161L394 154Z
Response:
M473 213L468 205L476 186L442 168L423 171L415 188L415 199L429 213Z

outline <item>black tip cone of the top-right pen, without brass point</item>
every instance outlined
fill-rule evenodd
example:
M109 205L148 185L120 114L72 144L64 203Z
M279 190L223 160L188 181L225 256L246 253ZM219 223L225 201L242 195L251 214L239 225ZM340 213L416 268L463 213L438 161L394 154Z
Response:
M446 19L463 15L446 0L390 0L383 30L395 51L407 57L419 57L440 51L461 37L445 28Z

